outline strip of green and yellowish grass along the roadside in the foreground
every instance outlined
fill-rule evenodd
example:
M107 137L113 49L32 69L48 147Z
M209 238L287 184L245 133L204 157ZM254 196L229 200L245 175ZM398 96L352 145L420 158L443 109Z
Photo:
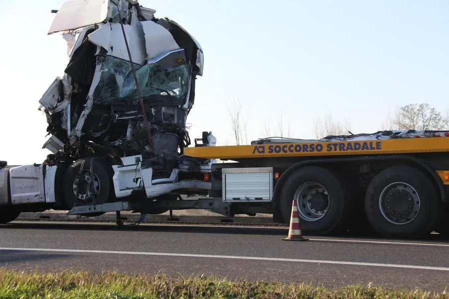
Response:
M347 286L325 289L311 285L287 285L227 281L192 277L172 278L164 275L126 275L87 272L46 273L17 272L0 269L0 299L165 299L165 298L448 298L444 294L421 290L394 291L370 286Z

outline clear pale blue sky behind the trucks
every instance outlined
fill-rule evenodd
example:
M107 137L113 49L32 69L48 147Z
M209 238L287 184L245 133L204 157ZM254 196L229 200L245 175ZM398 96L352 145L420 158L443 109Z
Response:
M0 1L2 106L0 160L41 163L41 95L67 63L61 35L46 35L63 0ZM228 105L237 98L248 142L277 135L315 138L313 122L331 113L351 130L381 129L388 111L411 102L449 108L447 0L141 0L191 32L205 53L192 140L213 131L232 144ZM285 129L286 130L286 129Z

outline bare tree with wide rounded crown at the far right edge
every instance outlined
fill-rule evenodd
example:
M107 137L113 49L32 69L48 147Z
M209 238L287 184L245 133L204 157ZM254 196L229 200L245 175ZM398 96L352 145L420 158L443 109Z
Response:
M408 104L388 117L384 127L389 130L444 130L449 126L448 116L428 103Z

